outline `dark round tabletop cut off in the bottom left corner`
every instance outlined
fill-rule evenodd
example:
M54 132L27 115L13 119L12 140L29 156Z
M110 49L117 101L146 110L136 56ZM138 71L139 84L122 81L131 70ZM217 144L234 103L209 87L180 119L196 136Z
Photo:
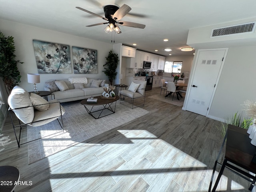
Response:
M20 180L20 172L14 166L0 166L0 191L12 192Z

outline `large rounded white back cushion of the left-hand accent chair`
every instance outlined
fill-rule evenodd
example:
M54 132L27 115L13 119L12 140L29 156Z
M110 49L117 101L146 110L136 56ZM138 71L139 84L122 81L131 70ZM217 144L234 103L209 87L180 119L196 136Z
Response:
M8 97L8 104L16 116L24 123L30 123L34 119L34 108L29 99L29 93L19 86L15 86ZM31 106L31 107L27 107ZM26 108L22 108L26 107Z

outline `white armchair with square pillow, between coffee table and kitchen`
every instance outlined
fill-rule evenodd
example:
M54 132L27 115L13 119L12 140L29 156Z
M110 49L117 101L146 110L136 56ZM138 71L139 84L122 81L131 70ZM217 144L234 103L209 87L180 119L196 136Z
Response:
M121 90L120 91L120 98L122 96L124 97L124 100L120 100L120 104L124 104L125 106L128 106L130 108L136 108L136 107L141 107L144 106L145 104L145 98L146 98L146 81L139 81L139 80L134 80L133 83L135 84L140 84L138 88L134 90L130 90L130 87L128 90Z

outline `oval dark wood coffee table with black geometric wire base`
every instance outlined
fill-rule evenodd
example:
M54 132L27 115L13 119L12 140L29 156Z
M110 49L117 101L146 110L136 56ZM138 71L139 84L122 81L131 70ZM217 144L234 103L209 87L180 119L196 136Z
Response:
M80 103L85 107L88 114L93 116L95 119L105 117L115 113L116 101L119 100L119 96L116 98L102 99L101 96L94 97L97 98L97 103L88 103L87 99L82 100ZM95 109L96 106L102 106L100 109Z

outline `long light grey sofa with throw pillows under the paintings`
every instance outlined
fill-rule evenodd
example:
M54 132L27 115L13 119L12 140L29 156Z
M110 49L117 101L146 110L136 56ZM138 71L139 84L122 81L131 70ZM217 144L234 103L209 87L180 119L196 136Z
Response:
M52 99L57 99L59 102L69 102L69 101L75 101L75 100L82 100L86 98L90 98L91 96L101 96L104 92L103 86L108 86L108 84L105 83L105 80L96 80L93 78L86 78L87 84L79 81L77 79L79 78L73 78L75 80L51 80L46 82L46 86L44 87L45 91L51 91L52 92ZM65 82L66 86L63 87L59 85L59 82L63 84L63 81ZM56 87L49 86L49 84L54 84L57 86L58 89L56 90Z

